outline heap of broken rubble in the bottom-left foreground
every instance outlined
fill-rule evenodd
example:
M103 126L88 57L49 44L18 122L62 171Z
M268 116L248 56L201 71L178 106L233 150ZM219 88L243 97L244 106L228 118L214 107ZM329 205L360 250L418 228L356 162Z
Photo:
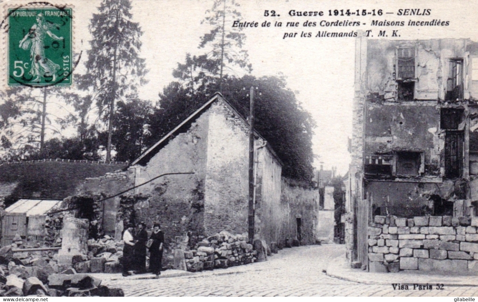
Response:
M19 259L11 246L0 248L0 296L123 296L120 289L101 286L101 280L73 269L58 274L58 266L47 257ZM56 277L55 277L56 276ZM66 276L66 277L65 277Z

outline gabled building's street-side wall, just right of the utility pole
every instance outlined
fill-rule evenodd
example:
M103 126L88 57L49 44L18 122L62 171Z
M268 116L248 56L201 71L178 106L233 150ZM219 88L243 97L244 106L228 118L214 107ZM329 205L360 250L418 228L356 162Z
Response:
M280 238L282 167L266 147L256 154L255 234L270 246Z

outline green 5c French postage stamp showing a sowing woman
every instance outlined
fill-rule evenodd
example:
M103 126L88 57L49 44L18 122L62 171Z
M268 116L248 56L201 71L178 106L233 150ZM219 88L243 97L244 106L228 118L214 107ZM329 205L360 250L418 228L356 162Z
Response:
M8 10L8 85L71 85L72 9Z

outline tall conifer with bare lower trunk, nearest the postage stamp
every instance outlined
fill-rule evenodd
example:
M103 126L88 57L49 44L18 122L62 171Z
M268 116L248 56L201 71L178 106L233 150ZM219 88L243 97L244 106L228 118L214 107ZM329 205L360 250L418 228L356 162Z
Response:
M80 88L89 90L99 115L108 122L106 160L111 160L115 101L136 98L137 86L145 84L145 60L139 57L141 27L132 22L130 0L103 0L93 14L89 31L87 72Z

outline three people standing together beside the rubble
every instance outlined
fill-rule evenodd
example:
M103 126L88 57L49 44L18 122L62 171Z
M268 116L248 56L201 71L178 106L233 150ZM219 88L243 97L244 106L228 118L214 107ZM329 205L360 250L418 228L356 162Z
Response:
M146 248L150 251L149 270L158 277L161 275L161 262L163 259L164 233L159 223L155 223L151 236L148 239L146 224L140 222L136 233L133 234L133 225L128 224L123 233L123 276L129 276L130 270L136 273L146 272Z

